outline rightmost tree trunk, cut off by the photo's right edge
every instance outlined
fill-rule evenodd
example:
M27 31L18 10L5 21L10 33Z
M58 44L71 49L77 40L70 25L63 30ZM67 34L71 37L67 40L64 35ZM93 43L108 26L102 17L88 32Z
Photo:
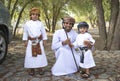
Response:
M114 4L112 4L113 2L114 2ZM116 8L114 7L114 9L113 9L114 11L112 12L112 13L116 14L116 16L115 16L115 21L114 21L115 29L114 29L113 39L112 39L110 49L120 50L120 0L111 0L111 4L112 4L112 6L116 5ZM112 25L112 21L111 21L111 25Z

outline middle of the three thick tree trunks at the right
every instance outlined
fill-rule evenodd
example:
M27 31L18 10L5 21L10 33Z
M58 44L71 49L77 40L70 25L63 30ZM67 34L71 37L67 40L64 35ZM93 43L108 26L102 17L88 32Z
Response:
M107 35L107 50L111 49L116 21L117 18L119 18L118 12L119 12L119 0L111 0L111 16L110 16L111 18L110 18L108 35Z

